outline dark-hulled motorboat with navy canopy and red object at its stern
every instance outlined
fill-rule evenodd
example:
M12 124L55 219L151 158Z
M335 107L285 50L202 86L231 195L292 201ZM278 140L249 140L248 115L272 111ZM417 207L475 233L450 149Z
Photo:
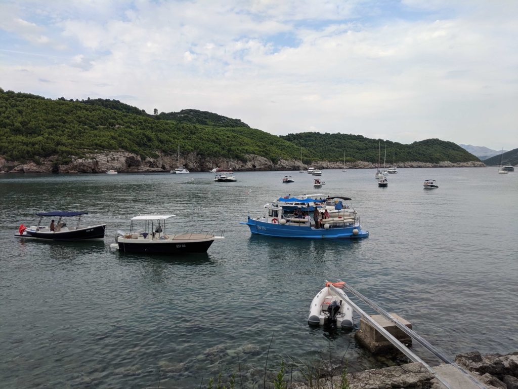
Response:
M52 212L40 212L36 216L39 216L39 221L36 226L25 227L23 224L20 225L18 233L15 233L16 238L36 238L46 239L52 241L92 241L92 240L103 240L104 231L106 224L99 224L97 226L88 226L79 228L79 222L81 216L87 214L87 211L52 211ZM52 219L49 227L42 226L41 220L45 217L57 217L57 223L54 224ZM77 225L67 226L62 221L63 217L79 216Z

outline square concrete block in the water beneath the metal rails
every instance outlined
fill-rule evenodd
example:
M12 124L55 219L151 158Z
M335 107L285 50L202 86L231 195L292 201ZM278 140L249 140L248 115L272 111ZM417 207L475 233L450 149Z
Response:
M406 327L412 329L412 323L395 313L391 313L391 315ZM384 316L372 315L370 317L401 343L407 346L412 345L412 338L397 328L394 323L386 319ZM397 352L397 349L392 345L392 343L363 317L359 321L359 330L356 331L354 336L358 343L362 344L362 346L372 354L393 354Z

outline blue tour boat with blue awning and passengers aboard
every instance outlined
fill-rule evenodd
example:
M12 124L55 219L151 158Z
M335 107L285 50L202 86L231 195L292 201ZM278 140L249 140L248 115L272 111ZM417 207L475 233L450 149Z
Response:
M336 200L336 201L335 201ZM309 239L343 239L367 238L369 232L362 230L356 211L343 205L347 197L327 197L325 199L281 197L264 207L267 210L262 216L248 216L246 224L253 234L268 235L279 238L309 238ZM297 207L294 209L293 204ZM285 205L290 204L290 205ZM321 217L328 204L334 204L334 212ZM319 217L314 218L314 210Z

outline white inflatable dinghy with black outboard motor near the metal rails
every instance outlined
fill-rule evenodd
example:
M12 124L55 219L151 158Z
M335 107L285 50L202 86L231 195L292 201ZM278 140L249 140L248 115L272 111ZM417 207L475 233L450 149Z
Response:
M340 288L343 282L326 283L325 287L313 297L309 307L308 324L327 329L352 329L354 323L351 305L338 296L329 285Z

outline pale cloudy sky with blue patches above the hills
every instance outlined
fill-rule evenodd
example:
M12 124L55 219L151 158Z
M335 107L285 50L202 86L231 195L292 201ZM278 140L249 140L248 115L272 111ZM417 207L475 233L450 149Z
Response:
M518 148L516 0L0 0L0 87Z

